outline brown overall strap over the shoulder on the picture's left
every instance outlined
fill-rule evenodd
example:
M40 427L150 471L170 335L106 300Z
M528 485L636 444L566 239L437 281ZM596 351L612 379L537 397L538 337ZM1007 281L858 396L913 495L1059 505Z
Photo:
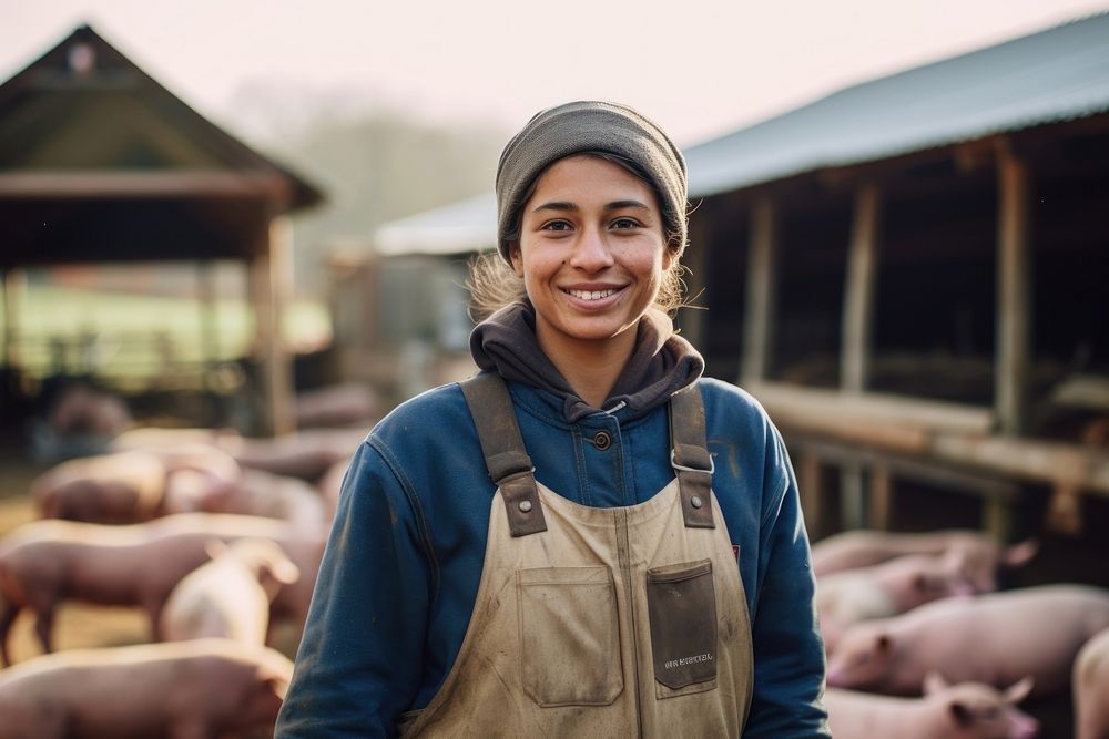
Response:
M512 536L547 531L536 468L523 448L505 380L496 372L481 372L459 384L478 429L489 478L505 499L509 531Z

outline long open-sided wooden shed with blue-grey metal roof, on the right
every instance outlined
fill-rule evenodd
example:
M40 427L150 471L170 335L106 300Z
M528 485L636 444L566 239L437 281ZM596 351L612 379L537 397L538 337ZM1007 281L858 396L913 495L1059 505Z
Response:
M1109 14L686 157L710 310L683 328L783 428L811 521L885 526L906 481L1001 535L1025 491L1072 531L1109 496Z

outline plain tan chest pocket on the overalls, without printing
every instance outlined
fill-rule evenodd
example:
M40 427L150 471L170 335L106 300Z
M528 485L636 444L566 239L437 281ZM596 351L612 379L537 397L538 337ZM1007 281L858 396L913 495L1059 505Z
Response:
M606 566L516 573L523 689L539 706L608 706L623 690L615 586Z

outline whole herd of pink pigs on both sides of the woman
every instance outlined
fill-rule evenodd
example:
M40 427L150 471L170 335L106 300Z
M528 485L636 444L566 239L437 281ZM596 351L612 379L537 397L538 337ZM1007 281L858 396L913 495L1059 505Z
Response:
M126 431L32 485L41 520L0 538L0 739L253 736L292 675L347 461L365 433L248 440ZM1017 704L1070 691L1078 739L1109 739L1109 591L999 592L1036 555L969 531L854 531L813 546L837 739L1029 739ZM59 606L141 608L151 643L53 651ZM43 656L12 665L34 618Z

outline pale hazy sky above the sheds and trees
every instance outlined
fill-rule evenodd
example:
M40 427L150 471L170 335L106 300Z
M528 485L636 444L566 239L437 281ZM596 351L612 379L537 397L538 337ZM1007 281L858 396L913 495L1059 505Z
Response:
M571 99L693 144L1109 0L0 0L0 80L88 22L202 113L250 85L488 122ZM240 97L241 99L241 97Z

